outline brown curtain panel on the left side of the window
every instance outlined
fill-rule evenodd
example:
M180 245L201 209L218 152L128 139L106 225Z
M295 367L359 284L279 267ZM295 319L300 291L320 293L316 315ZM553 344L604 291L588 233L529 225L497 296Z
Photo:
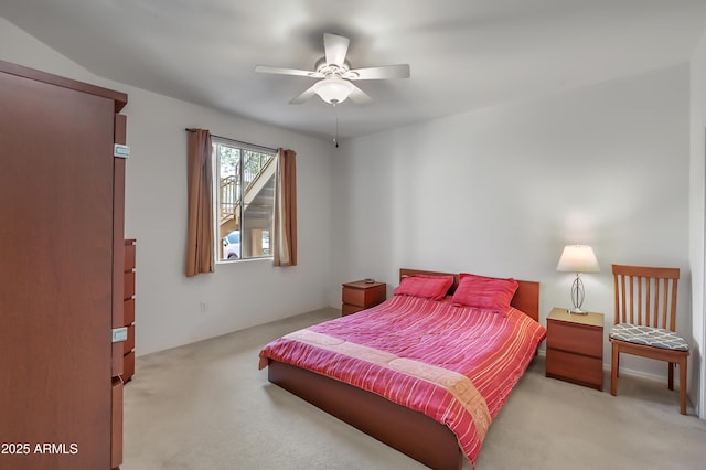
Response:
M205 129L189 132L189 232L186 239L186 277L213 273L213 209L211 133Z

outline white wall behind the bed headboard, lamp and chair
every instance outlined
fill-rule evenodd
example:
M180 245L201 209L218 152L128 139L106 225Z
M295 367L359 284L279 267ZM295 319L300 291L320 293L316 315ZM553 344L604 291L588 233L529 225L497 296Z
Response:
M688 78L685 64L343 142L336 278L396 285L410 267L538 280L544 322L570 302L561 249L584 243L601 265L584 277L585 308L611 324L612 263L674 266L677 328L691 334Z

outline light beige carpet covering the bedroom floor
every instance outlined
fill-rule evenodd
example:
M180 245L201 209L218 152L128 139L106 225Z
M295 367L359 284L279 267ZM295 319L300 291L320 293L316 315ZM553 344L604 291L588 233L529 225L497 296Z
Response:
M138 357L125 387L121 468L425 468L257 370L264 344L339 314L317 310ZM706 423L680 415L678 393L666 384L621 376L613 397L546 378L536 357L491 425L475 468L674 470L705 462Z

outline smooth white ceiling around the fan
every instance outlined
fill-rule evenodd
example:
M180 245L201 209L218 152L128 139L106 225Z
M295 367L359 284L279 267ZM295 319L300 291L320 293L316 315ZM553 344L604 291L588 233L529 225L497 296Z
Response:
M340 138L687 62L706 0L2 0L0 15L93 73L307 135ZM289 100L312 78L324 32L373 102ZM2 44L1 46L8 46Z

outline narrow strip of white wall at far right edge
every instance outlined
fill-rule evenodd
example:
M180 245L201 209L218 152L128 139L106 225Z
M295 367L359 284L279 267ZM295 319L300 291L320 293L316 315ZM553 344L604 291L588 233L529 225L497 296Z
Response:
M696 346L692 351L692 386L697 389L692 397L698 404L699 417L706 419L706 361L704 343L706 322L704 322L704 216L705 216L705 154L706 154L706 34L702 38L692 57L691 76L691 210L689 210L689 260L692 264L694 318L692 340ZM696 385L700 384L698 388Z

